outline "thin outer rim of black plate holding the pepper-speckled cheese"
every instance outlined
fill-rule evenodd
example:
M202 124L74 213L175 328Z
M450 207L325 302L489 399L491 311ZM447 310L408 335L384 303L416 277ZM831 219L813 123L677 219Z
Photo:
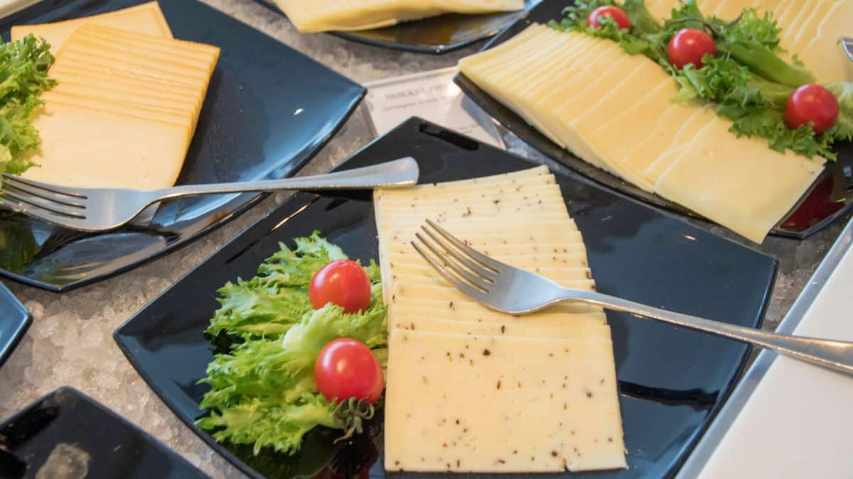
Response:
M448 130L448 129L446 129L446 128L438 125L438 124L432 124L431 122L429 122L423 118L420 118L420 117L410 117L408 120L404 121L402 124L397 126L397 128L400 128L403 126L403 124L408 124L409 122L412 122L412 121L417 121L417 122L421 122L424 124L431 124L440 130L449 131L452 135L461 136L463 138L467 138L470 141L477 141L477 140L475 140L469 136L465 136L465 135L462 135L461 133L457 133L456 131ZM350 157L347 157L347 159L345 159L343 162L341 162L340 164L338 164L337 166L335 166L334 168L332 168L329 171L331 172L334 170L342 169L342 167L345 167L345 164L349 158L356 156L358 153L361 153L364 149L372 146L375 142L380 141L382 138L383 138L383 136L374 138L374 140L368 142L368 144L365 145L364 147L359 148L357 150L357 152L352 153ZM479 141L477 141L477 142L479 142ZM514 156L515 158L517 158L519 160L524 161L525 163L529 163L531 165L537 165L537 163L531 161L531 159L526 159L525 157L522 157L516 153L512 153L509 151L507 151L506 153ZM548 162L549 163L556 163L556 162L554 162L553 159L548 159ZM546 166L548 166L548 168L553 171L554 165L549 164L549 163L546 163ZM631 202L636 203L636 204L644 205L646 207L652 207L650 205L647 205L646 203L638 201L637 199L631 198L630 196L628 196L624 193L614 191L614 190L612 190L612 188L602 187L598 182L595 182L586 176L580 175L579 173L577 173L577 171L571 170L565 165L562 165L559 163L556 163L556 164L559 167L561 167L562 169L566 170L566 171L557 171L559 174L573 176L573 178L577 179L577 181L592 184L595 186L595 188L603 188L608 193L615 194L622 199L626 199L628 201L631 201ZM343 169L345 169L345 168L343 168ZM312 203L316 198L317 198L317 196L314 194L311 194L311 193L296 193L293 196L291 196L290 198L285 199L284 201L282 201L281 203L276 205L276 207L273 210L271 210L270 212L268 212L264 216L261 216L260 218L258 218L254 222L252 222L250 225L248 225L246 228L244 228L239 234L236 234L234 238L229 240L224 245L220 246L217 250L212 251L212 253L210 255L206 256L204 259L200 260L200 262L197 263L197 265L194 268L190 269L187 273L183 274L181 276L181 278L179 278L174 283L172 283L171 286L174 286L175 284L177 284L177 282L184 280L186 277L188 277L190 274L192 274L196 268L198 268L201 264L206 263L206 261L208 261L214 255L220 254L226 250L235 249L236 244L239 242L239 240L241 240L241 238L244 235L251 233L252 230L258 226L258 224L270 221L271 216L279 213L281 210L283 210L287 206L289 206L289 208L288 208L287 214L284 216L290 217L290 216L293 216L295 214L298 214L299 211L303 207L305 207L306 205L310 205L310 203ZM299 201L301 199L306 199L306 200ZM671 213L670 211L661 211L659 209L655 209L655 211L663 214L664 216L670 216L670 217L676 218L678 221L681 221L681 222L684 221L681 217L677 216L676 214ZM720 238L720 237L717 236L717 238ZM737 241L730 240L728 238L721 238L721 239L728 241L730 243L734 243L735 245L738 245L742 248L747 248L751 251L754 251L754 252L762 255L763 257L768 257L773 262L773 271L771 274L770 284L769 284L770 287L768 288L768 290L764 294L764 297L762 300L762 307L761 307L761 310L759 311L757 324L755 326L756 329L760 329L760 327L762 326L763 321L764 321L764 316L767 314L767 310L769 308L769 299L772 296L773 291L775 289L775 282L776 282L776 279L777 279L778 274L779 274L779 259L777 257L773 257L771 255L768 255L767 253L765 253L763 251L758 251L756 248L752 247L751 245L744 245L744 244L741 244ZM237 248L237 251L240 251L244 248L245 248L245 246L240 245L240 248ZM193 432L196 434L196 436L199 436L200 439L202 441L205 441L206 444L208 446L210 446L216 453L223 456L223 458L228 460L229 463L231 463L232 465L235 465L235 467L237 467L237 469L241 470L247 476L252 477L252 479L264 479L264 476L259 475L249 465L244 463L241 459L237 458L234 453L231 453L228 449L223 447L223 445L221 443L219 443L218 441L213 439L213 437L210 434L208 434L206 432L206 430L202 430L192 420L189 420L189 418L183 418L183 416L178 414L177 411L171 406L171 403L164 401L162 399L163 394L164 394L163 390L161 390L160 387L158 387L158 385L153 381L153 378L151 378L151 376L148 374L148 372L145 372L145 370L142 369L142 367L141 367L142 365L139 364L136 361L135 356L132 355L130 346L124 342L124 339L123 339L124 334L123 334L122 330L124 330L125 327L130 325L130 323L136 318L136 315L138 315L140 311L148 308L149 305L156 302L161 296L165 296L165 294L171 289L171 286L167 287L164 291L161 291L160 294L158 294L151 301L149 301L144 306L142 306L142 308L137 310L136 313L134 313L134 315L132 315L128 320L125 320L125 322L123 322L121 325L119 325L115 329L115 331L113 331L113 341L115 341L115 343L118 344L119 349L125 355L125 358L131 363L131 366L133 366L133 368L142 377L142 379L146 382L146 384L148 384L148 387L151 388L151 390L154 390L154 393L158 396L158 398L160 398L160 401L163 401L165 403L165 405L167 407L169 407L169 409L172 411L172 413L175 413L177 418L179 418L183 422L183 424L186 424L190 430L193 430ZM734 386L736 384L738 384L738 382L740 381L740 378L743 375L743 372L746 370L746 362L748 361L748 359L751 355L751 351L752 351L752 349L746 349L746 351L744 352L744 354L740 360L740 365L738 366L737 371L733 375L732 379L728 382L728 384L726 384L725 388L722 390L722 393L720 395L721 399L720 399L720 401L718 401L717 406L715 406L713 409L711 409L711 411L709 411L705 420L699 426L699 429L696 430L696 432L693 434L693 437L689 441L687 441L685 447L689 450L689 453L684 454L683 459L678 462L678 464L676 465L676 467L674 469L673 476L675 476L675 472L677 472L677 470L681 469L682 465L684 465L684 463L687 461L690 454L693 453L693 450L695 449L696 445L699 443L699 440L701 439L701 437L705 435L705 432L711 426L711 423L714 421L715 418L717 418L717 414L720 412L720 410L722 410L722 407L725 405L726 401L728 401L728 397L734 391ZM200 410L199 413L201 414L202 411Z

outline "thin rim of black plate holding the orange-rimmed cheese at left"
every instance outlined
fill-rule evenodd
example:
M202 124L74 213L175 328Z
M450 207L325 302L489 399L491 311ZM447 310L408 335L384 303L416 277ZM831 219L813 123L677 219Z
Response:
M350 81L352 81L352 80L350 80ZM337 122L336 124L334 124L334 127L329 132L328 136L323 138L323 140L320 141L319 143L317 143L315 147L311 147L307 151L307 153L305 153L305 158L299 160L299 163L297 163L295 165L295 167L293 168L293 174L298 173L299 170L302 170L302 168L305 167L305 164L307 164L311 159L314 159L316 154L320 153L322 148L324 148L328 145L328 142L331 141L332 138L338 134L340 129L343 128L344 124L352 116L352 113L354 113L356 111L357 107L359 107L361 105L361 103L364 99L364 96L367 95L367 89L364 88L363 85L361 85L361 84L357 84L355 82L353 82L353 84L356 84L361 89L361 93L358 95L356 101L353 101L351 107L340 118L340 121ZM184 246L187 246L196 240L200 240L200 238L202 236L204 236L205 234L208 234L212 230L220 228L224 224L230 222L231 220L234 220L238 216L241 216L243 213L245 213L246 211L251 209L253 206L257 205L262 199L266 198L267 195L269 195L269 194L270 193L257 194L252 199L249 199L246 203L244 203L240 207L236 208L234 211L231 211L228 215L225 215L225 216L219 218L216 222L212 222L211 224L207 225L205 228L202 228L198 233L194 234L193 236L190 236L189 238L186 238L182 241L177 241L176 243L174 243L172 245L168 245L164 249L157 251L156 253L154 253L154 255L152 255L150 257L143 258L142 260L140 260L136 263L128 264L127 266L125 266L123 268L117 268L117 269L114 269L113 271L110 271L107 273L91 276L90 278L86 278L84 280L72 281L70 283L66 283L63 285L56 285L54 283L46 283L44 281L33 280L32 278L29 278L27 276L15 274L15 273L9 273L8 271L6 271L4 269L0 269L0 276L9 278L9 280L14 280L16 282L25 284L27 286L35 286L37 288L40 288L40 289L43 289L46 291L52 291L52 292L67 292L67 291L72 291L72 290L78 289L78 288L83 287L83 286L89 286L89 285L97 283L99 281L107 280L109 278L113 278L114 276L118 276L119 274L124 274L124 273L130 271L131 269L138 268L138 267L142 266L143 264L150 263L156 259L160 259L161 257L164 257L167 254L170 254L172 252L175 252L175 251L182 249ZM263 217L266 217L266 215L262 216L262 218ZM253 224L254 224L254 222L252 222L252 225Z

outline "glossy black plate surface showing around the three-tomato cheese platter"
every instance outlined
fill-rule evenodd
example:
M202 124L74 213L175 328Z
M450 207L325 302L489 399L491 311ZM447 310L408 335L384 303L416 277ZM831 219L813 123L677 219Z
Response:
M548 23L550 20L559 20L562 18L560 14L562 9L571 3L571 0L543 0L531 9L524 18L519 19L514 25L509 26L496 38L493 38L485 45L484 49L490 49L507 41L531 23ZM548 140L546 136L539 133L523 118L479 89L464 75L456 76L456 84L492 118L495 118L508 130L549 158L566 164L572 170L577 170L596 182L600 182L620 193L628 194L635 199L683 215L698 216L682 205L677 205L656 194L643 191L628 182L624 182L618 176L613 176L605 170L595 168L595 166L577 158L553 141ZM770 233L803 239L810 234L815 234L822 228L826 228L830 223L844 216L847 211L850 211L850 208L853 208L853 144L846 143L838 146L838 162L827 165L827 169L809 189L809 192Z

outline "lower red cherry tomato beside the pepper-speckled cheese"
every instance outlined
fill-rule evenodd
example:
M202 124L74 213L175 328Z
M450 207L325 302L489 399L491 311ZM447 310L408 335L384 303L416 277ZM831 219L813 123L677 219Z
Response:
M314 382L329 402L354 397L373 404L385 387L376 356L364 343L350 338L326 344L314 363Z

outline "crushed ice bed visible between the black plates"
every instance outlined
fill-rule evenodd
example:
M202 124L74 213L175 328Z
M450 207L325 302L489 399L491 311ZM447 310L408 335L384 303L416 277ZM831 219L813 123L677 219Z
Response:
M213 7L299 49L359 82L453 66L480 45L442 56L377 49L329 35L300 35L281 15L253 0L203 0ZM315 174L339 164L372 139L363 112L357 111L328 146L300 174ZM514 153L531 159L537 152L513 136L504 140ZM248 224L286 198L270 196L223 228L179 251L96 285L64 294L7 282L26 304L33 324L0 369L0 418L9 416L56 387L69 385L147 430L212 477L243 477L213 453L154 395L125 359L112 333L138 309L200 263ZM759 248L779 257L780 274L764 327L774 329L790 309L818 263L849 220L836 222L808 240L769 238ZM718 234L733 237L723 228Z

